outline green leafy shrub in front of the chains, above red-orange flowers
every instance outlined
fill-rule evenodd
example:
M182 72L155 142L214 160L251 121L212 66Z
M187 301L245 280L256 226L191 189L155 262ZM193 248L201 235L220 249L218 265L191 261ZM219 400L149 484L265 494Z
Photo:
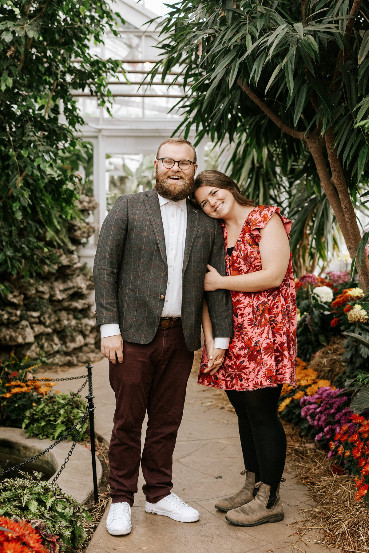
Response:
M0 515L27 520L40 519L43 528L59 536L60 553L81 545L86 534L82 523L91 516L58 484L41 481L42 475L22 473L24 478L0 482Z

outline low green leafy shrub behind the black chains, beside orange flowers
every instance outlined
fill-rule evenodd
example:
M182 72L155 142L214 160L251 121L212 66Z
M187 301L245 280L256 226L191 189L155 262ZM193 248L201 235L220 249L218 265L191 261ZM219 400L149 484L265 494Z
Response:
M28 436L37 436L41 440L57 440L85 413L86 401L79 394L49 394L25 413L22 428L26 429ZM79 440L88 437L87 428L88 422L85 421ZM74 440L79 429L80 426L68 438Z

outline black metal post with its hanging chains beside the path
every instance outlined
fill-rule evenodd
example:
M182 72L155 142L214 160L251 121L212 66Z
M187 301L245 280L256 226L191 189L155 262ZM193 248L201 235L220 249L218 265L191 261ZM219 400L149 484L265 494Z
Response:
M69 461L69 458L72 455L73 450L76 446L76 443L79 440L79 437L80 437L81 432L83 430L84 422L87 419L87 417L89 417L89 419L90 419L91 457L92 457L93 497L94 497L95 503L97 503L98 495L97 495L97 474L96 474L96 456L95 456L95 424L94 424L94 420L93 420L93 414L95 413L95 405L93 404L93 401L92 401L93 398L95 398L95 396L92 395L92 367L93 366L89 363L86 366L88 374L82 375L80 377L43 378L44 381L50 381L50 382L61 382L63 380L76 380L76 379L79 379L79 378L86 378L86 380L82 384L81 388L77 392L72 392L72 394L74 394L74 395L72 395L72 397L70 398L70 400L71 400L76 395L78 395L82 391L82 389L84 389L84 387L86 386L86 384L88 382L89 383L89 395L86 395L86 399L87 399L86 413L83 416L81 416L81 418L79 420L77 420L77 422L69 430L67 430L65 432L65 434L63 434L63 436L60 436L60 438L58 440L56 440L54 442L54 444L51 444L51 446L46 447L46 449L44 449L44 451L41 451L40 453L38 453L38 455L35 455L34 457L28 459L27 461L24 461L23 463L20 463L19 465L15 465L14 467L9 467L9 468L4 469L2 472L0 472L0 475L6 474L7 472L14 471L15 469L23 468L23 467L25 467L25 465L28 465L28 463L32 463L32 461L35 461L39 457L42 457L43 455L45 455L45 453L48 453L55 446L60 444L60 442L65 440L66 437L69 436L74 430L77 430L77 426L81 425L80 429L77 430L76 437L75 437L75 439L72 443L72 447L70 448L70 450L68 452L68 455L65 457L63 465L61 465L59 471L55 474L55 476L53 478L53 481L51 482L52 484L54 484L56 482L56 480L59 478L59 476L60 476L61 472L63 471L63 469L65 468L66 463ZM66 404L69 403L69 401L67 401Z

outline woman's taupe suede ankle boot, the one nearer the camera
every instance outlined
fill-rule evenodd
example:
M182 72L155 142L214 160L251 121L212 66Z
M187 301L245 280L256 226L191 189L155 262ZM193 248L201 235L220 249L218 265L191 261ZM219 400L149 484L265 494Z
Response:
M271 509L267 509L271 487L261 482L256 497L246 505L228 511L226 519L237 526L258 526L264 522L283 520L283 506L279 498L279 486L277 489L277 500Z

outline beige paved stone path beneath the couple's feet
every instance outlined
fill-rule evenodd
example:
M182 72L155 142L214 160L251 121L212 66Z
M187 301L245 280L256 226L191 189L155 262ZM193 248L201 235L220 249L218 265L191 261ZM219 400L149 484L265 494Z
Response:
M67 376L84 374L82 368L70 369ZM93 392L96 405L96 432L110 440L114 412L114 396L108 383L106 359L92 369ZM55 373L53 373L55 375ZM66 375L60 373L58 376ZM78 380L58 384L60 391L77 390ZM86 394L87 395L87 392ZM87 553L129 551L138 553L322 553L325 547L316 544L319 534L304 535L297 542L294 529L289 526L299 520L299 508L307 508L306 488L284 473L287 481L281 485L284 520L254 528L232 526L225 513L214 507L216 499L236 492L244 481L237 417L221 409L210 409L205 403L211 391L199 386L191 375L188 383L183 421L178 433L173 458L173 491L200 512L200 520L193 524L179 523L167 517L144 512L143 477L140 472L138 493L132 508L132 532L128 536L110 536L102 518ZM143 436L145 428L143 428Z

